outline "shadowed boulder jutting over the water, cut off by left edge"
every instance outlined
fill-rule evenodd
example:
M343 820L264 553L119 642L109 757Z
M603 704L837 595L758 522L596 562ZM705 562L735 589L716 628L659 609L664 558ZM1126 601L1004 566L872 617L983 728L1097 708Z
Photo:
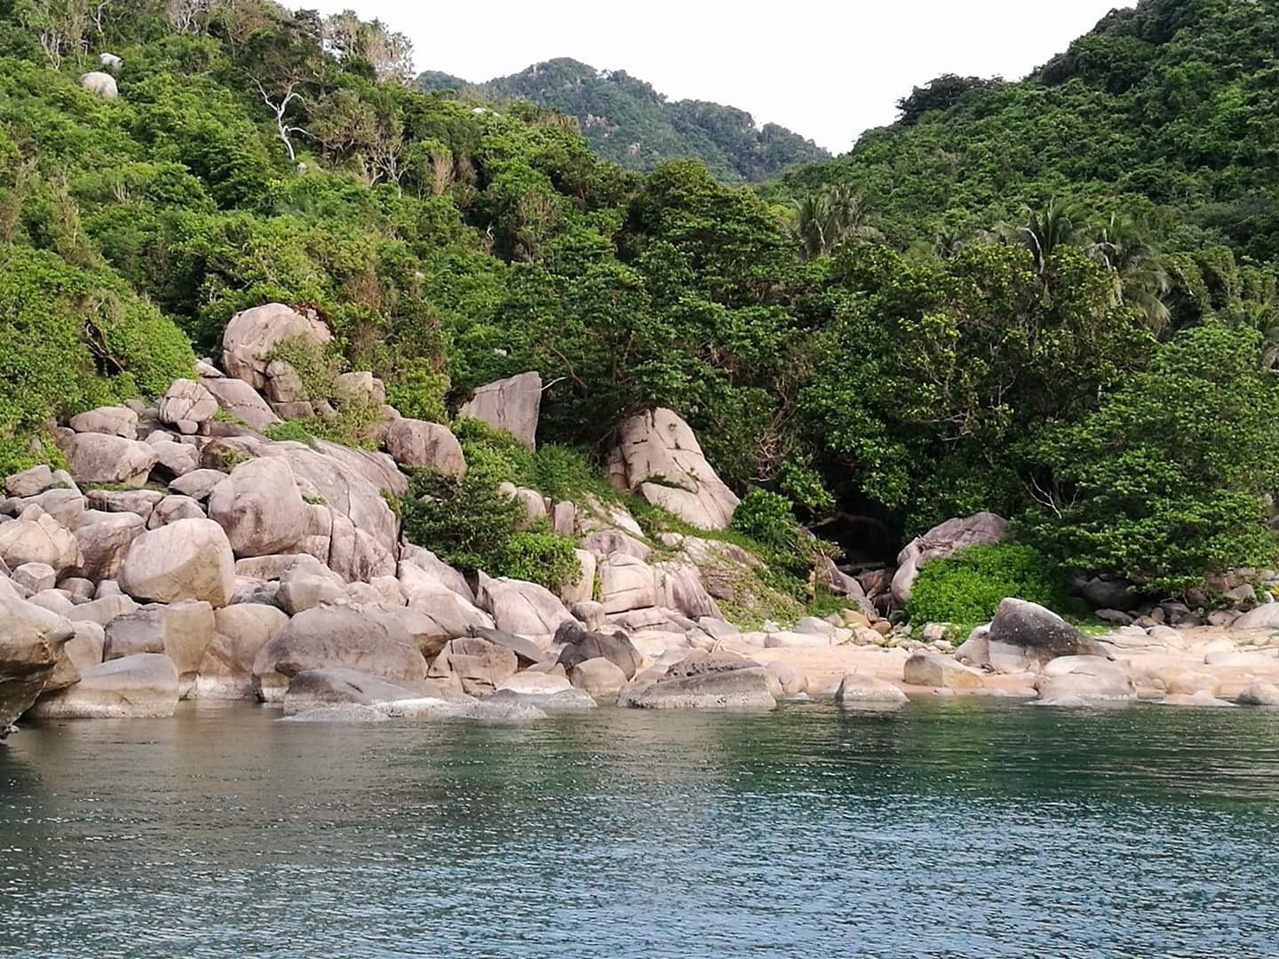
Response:
M0 596L0 739L36 702L74 635L63 616Z

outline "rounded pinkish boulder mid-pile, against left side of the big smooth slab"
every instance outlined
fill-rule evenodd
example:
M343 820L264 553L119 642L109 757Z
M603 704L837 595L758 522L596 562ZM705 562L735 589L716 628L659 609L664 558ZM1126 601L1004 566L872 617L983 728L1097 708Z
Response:
M251 459L208 496L208 518L226 531L237 556L292 552L307 532L303 501L286 459Z

